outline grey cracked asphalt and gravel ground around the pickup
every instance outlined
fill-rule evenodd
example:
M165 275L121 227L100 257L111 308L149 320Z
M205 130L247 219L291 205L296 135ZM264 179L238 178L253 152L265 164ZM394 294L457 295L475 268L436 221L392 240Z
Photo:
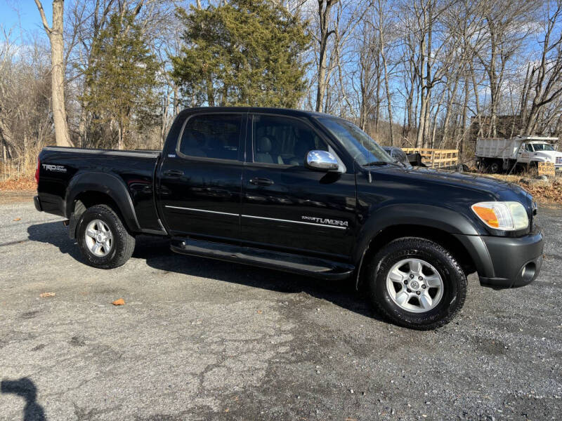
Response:
M60 218L0 203L0 420L561 419L562 208L540 208L537 281L495 291L472 275L460 316L418 332L346 282L150 237L93 269Z

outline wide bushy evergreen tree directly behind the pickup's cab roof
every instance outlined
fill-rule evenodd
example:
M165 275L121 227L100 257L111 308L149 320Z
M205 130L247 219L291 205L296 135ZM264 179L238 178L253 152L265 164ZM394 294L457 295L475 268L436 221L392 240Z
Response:
M222 2L221 2L222 3ZM192 103L296 107L306 89L306 22L267 0L178 9L185 46L173 75Z

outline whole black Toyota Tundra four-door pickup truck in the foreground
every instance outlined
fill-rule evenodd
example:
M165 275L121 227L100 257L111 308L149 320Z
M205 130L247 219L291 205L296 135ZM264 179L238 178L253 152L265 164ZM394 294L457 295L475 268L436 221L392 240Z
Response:
M350 279L410 328L450 321L468 274L512 288L542 265L524 189L404 168L327 114L186 109L162 152L46 147L36 178L37 210L67 218L89 265L123 265L138 234L167 236L177 253Z

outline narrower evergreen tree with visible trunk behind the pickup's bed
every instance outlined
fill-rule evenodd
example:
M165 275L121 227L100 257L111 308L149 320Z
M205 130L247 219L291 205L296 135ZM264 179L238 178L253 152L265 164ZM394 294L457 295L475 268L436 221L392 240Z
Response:
M94 123L117 129L119 149L133 146L131 131L157 123L158 62L134 15L115 13L93 41L81 97Z

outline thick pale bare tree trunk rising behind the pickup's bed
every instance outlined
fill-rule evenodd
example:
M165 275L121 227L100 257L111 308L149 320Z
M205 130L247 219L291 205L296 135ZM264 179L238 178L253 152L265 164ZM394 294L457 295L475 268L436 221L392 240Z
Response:
M64 0L53 0L53 25L49 27L43 5L35 0L41 22L51 41L51 88L53 89L53 120L55 123L55 138L58 146L73 146L68 134L65 109L65 60L63 39L64 30Z

